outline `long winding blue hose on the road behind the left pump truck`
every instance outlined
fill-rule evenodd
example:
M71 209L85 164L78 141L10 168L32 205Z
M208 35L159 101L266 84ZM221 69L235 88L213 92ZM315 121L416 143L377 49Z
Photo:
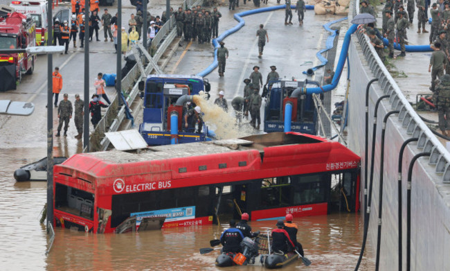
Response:
M238 22L238 24L233 27L230 28L228 30L226 30L224 33L222 33L221 35L219 35L219 37L213 39L213 46L214 46L214 61L212 64L210 64L206 69L204 69L203 71L200 71L199 73L197 73L197 76L207 76L211 71L213 71L217 65L217 49L219 48L219 42L222 42L222 40L224 40L226 37L228 37L228 35L231 35L233 33L235 33L237 30L240 30L240 28L242 28L242 26L244 26L245 21L244 19L242 19L242 17L248 16L248 15L253 15L253 14L257 14L260 12L267 12L267 11L273 11L273 10L282 10L285 9L286 5L279 5L279 6L272 6L272 7L267 7L267 8L256 8L254 10L246 10L243 12L239 12L236 13L234 15L235 20ZM291 5L291 8L296 8L295 5ZM314 10L314 6L311 5L307 5L306 6L307 10Z

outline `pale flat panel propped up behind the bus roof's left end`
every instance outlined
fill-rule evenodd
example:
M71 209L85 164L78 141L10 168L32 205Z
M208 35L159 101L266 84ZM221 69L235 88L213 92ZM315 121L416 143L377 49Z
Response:
M106 132L105 135L116 150L137 150L147 148L147 142L145 142L138 130Z

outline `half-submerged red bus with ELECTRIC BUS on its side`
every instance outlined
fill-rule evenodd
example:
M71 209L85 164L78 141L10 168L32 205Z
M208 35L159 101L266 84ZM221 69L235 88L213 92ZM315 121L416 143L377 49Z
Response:
M296 132L73 155L54 168L54 223L113 232L127 218L187 227L359 210L360 157Z

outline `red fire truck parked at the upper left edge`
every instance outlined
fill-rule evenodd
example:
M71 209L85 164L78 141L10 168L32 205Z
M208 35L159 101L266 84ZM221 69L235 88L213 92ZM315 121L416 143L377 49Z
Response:
M36 44L36 25L29 15L0 10L0 50L26 49ZM4 82L0 91L16 89L24 73L35 69L35 54L0 53L0 78Z

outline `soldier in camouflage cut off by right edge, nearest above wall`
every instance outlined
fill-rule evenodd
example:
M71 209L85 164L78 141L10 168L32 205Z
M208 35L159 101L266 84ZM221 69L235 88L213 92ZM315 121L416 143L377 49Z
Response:
M442 80L436 86L436 94L438 96L438 117L439 129L444 136L450 134L450 75L442 76Z

